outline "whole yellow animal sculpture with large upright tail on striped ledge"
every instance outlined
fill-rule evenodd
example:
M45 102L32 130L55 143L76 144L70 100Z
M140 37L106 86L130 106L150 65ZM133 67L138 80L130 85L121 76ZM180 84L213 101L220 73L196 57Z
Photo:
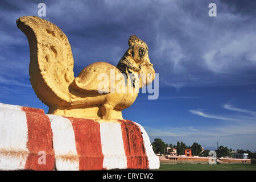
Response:
M147 44L135 35L130 37L129 49L117 67L93 63L75 78L71 46L59 27L37 16L22 16L16 24L28 38L31 85L38 98L49 106L48 114L105 121L122 119L122 110L133 104L138 89L154 80ZM108 80L99 90L101 74ZM112 75L121 78L113 80ZM116 92L117 86L123 92Z

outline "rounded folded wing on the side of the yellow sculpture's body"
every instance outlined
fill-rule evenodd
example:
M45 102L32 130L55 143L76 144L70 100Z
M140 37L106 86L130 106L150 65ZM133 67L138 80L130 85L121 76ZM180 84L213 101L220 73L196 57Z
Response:
M81 92L99 93L116 92L116 86L119 86L118 89L126 88L123 74L112 64L105 62L93 63L84 68L72 86Z

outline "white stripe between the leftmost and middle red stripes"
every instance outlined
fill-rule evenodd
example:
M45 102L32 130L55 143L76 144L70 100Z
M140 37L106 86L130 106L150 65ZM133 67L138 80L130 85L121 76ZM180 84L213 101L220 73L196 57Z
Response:
M47 116L51 121L57 170L78 171L79 155L71 121L59 115L47 114Z

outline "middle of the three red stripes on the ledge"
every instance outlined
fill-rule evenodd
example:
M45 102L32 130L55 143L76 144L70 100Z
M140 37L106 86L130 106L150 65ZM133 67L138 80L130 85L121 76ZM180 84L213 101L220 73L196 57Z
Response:
M72 122L75 133L79 170L103 169L100 123L92 119L67 118Z

